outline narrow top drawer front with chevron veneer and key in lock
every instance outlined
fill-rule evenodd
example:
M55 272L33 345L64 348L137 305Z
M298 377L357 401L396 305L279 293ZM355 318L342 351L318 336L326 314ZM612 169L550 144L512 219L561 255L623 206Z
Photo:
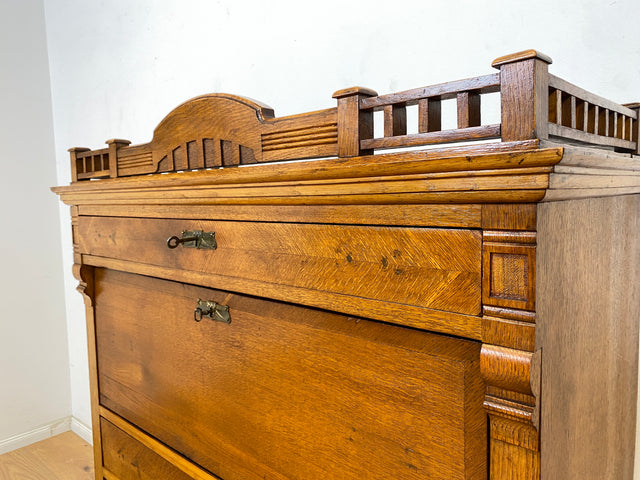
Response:
M169 249L167 239L184 230L215 232L217 249ZM481 236L473 230L80 217L76 241L83 254L207 274L215 287L234 279L245 293L268 283L480 314Z

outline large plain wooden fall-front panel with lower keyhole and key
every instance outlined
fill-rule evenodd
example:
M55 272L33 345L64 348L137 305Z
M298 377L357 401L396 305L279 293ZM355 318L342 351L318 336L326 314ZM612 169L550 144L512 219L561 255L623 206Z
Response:
M97 269L100 402L225 480L485 479L479 344ZM196 300L231 323L194 321Z

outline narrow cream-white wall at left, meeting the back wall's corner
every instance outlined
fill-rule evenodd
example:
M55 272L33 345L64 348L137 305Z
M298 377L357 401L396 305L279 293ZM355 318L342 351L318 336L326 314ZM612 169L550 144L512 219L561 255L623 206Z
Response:
M71 413L42 0L0 1L0 65L3 453L68 429Z

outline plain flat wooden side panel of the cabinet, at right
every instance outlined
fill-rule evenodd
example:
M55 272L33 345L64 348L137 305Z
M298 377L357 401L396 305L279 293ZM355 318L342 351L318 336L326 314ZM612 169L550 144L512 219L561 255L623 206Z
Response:
M542 479L631 480L640 196L541 204L537 255Z

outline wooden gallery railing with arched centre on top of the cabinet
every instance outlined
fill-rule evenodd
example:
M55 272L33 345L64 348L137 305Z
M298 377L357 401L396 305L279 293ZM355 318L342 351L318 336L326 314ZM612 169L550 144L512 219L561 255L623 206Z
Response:
M275 118L273 110L232 95L182 104L158 125L153 140L101 150L73 148L73 181L268 161L352 157L376 150L500 139L559 140L640 154L640 103L619 105L549 74L551 59L535 50L496 59L498 73L387 95L355 87L336 92L337 108ZM481 100L500 95L500 123L483 125ZM457 128L442 129L442 102L455 100ZM417 133L407 107L417 105ZM383 136L374 136L374 112ZM180 122L180 138L173 125ZM188 127L185 127L188 125ZM414 125L414 127L416 127Z

